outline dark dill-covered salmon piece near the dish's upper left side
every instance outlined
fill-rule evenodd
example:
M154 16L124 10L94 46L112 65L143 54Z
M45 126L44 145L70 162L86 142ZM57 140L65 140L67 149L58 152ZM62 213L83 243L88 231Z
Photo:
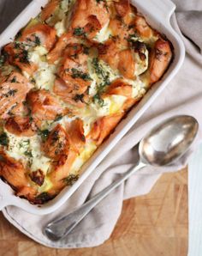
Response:
M4 46L3 52L7 53L6 56L9 64L16 65L30 76L32 76L33 72L38 68L36 64L29 60L28 52L25 47L19 43L10 43Z

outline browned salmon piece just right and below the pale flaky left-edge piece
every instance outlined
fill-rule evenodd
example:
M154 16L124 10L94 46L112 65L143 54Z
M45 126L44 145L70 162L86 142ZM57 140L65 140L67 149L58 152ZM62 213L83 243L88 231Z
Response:
M45 89L27 94L27 101L31 107L33 120L39 126L42 121L55 120L58 115L67 112L56 97Z

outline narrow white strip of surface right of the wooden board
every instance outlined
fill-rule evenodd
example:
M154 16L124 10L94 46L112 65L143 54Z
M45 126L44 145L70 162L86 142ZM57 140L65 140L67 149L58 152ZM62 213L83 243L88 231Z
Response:
M188 256L202 255L202 144L188 163Z

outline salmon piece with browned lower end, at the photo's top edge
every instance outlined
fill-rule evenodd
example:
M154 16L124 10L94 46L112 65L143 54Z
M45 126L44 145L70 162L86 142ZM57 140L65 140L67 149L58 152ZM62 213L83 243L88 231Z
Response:
M92 21L93 19L93 21ZM75 35L84 35L82 29L86 27L86 32L88 27L98 33L98 31L104 27L110 21L110 12L107 8L107 3L104 1L94 1L94 0L78 0L74 5L74 11L72 15L71 28ZM94 24L92 22L95 22ZM95 26L96 25L96 26ZM80 29L80 31L79 31ZM78 33L79 32L79 33ZM84 31L85 32L85 31ZM92 34L91 34L92 35ZM86 33L86 37L88 34ZM92 36L90 36L91 38Z

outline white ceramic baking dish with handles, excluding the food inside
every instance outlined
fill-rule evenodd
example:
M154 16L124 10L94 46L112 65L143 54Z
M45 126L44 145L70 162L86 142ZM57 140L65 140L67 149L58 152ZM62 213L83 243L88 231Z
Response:
M30 18L39 14L41 6L44 6L48 0L33 0L26 9L21 12L15 21L13 21L9 27L0 35L0 47L4 46L10 41L21 27L27 24ZM141 115L151 105L157 96L163 91L171 79L175 76L180 69L185 56L185 49L181 38L175 33L175 30L171 27L170 17L175 11L175 4L169 0L131 0L131 3L138 8L138 10L145 15L146 20L152 27L156 28L159 32L166 34L169 40L172 42L175 49L175 59L170 65L169 70L160 82L157 82L151 90L146 94L140 103L134 107L126 119L116 127L116 131L111 134L109 139L96 151L92 158L86 162L82 168L82 174L80 179L74 183L73 186L65 188L56 198L49 203L41 205L30 204L26 199L17 198L14 195L13 190L0 180L0 210L7 205L15 205L27 212L45 215L54 210L57 210L68 198L75 192L75 190L86 180L89 174L95 170L98 164L104 159L104 157L110 152L116 143L127 133L127 131L134 125L134 123L140 119Z

